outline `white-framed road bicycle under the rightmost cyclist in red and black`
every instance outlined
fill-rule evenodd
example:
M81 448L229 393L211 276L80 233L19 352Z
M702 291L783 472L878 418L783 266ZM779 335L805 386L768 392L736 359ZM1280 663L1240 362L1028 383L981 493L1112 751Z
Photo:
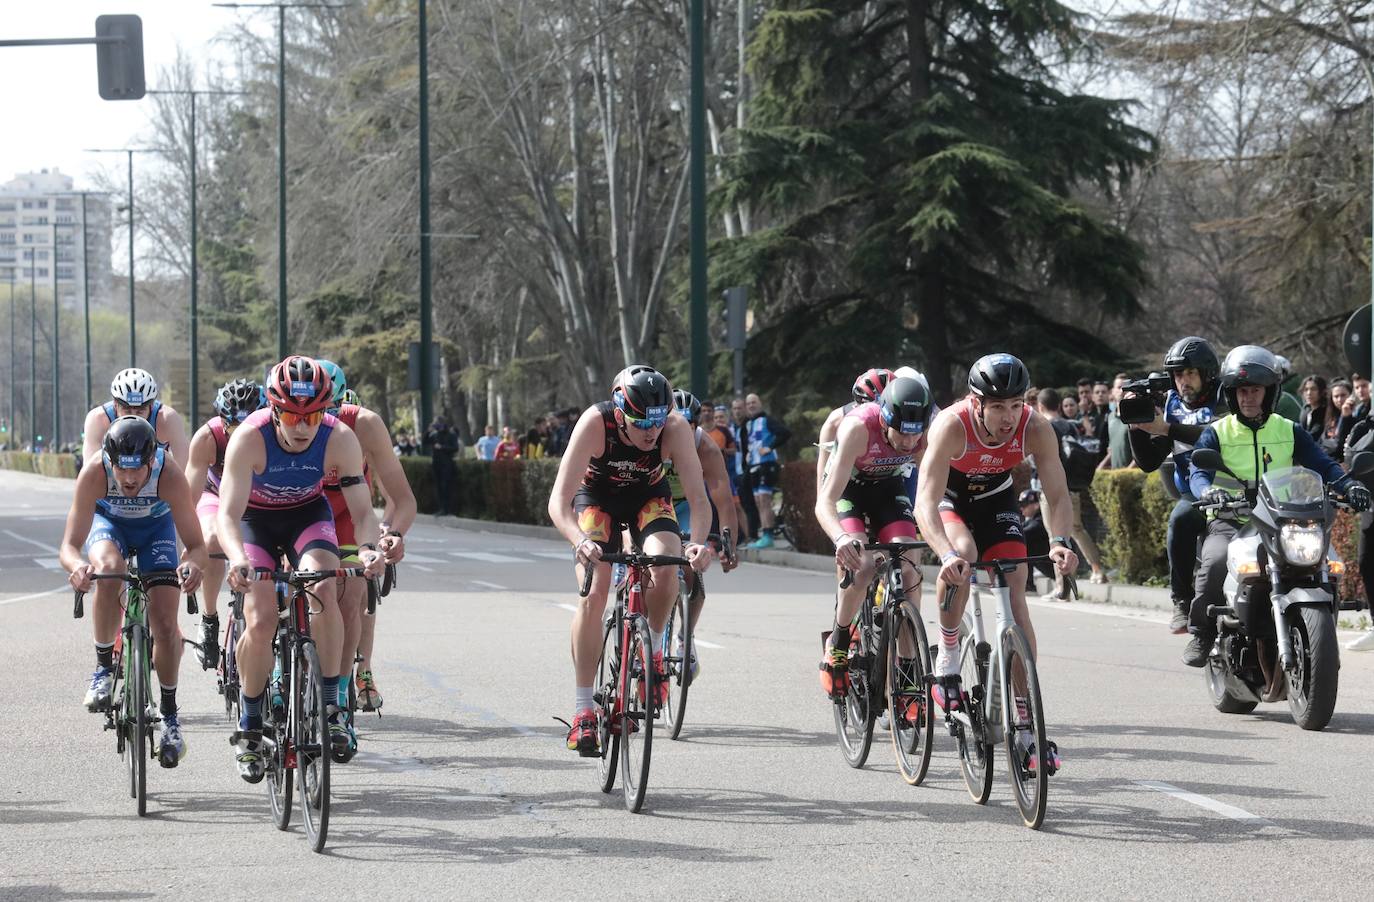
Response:
M992 793L992 760L1000 742L1006 748L1007 780L1021 820L1030 829L1044 822L1050 777L1058 770L1059 749L1046 740L1040 678L1025 630L1011 613L1007 576L1021 564L1041 564L1050 556L996 558L971 562L985 571L996 600L996 627L992 641L982 627L981 591L970 593L960 624L959 675L930 676L948 701L945 725L959 751L959 770L969 795L985 804ZM1066 575L1065 586L1077 597L1077 584ZM941 609L948 610L955 587L945 590Z

